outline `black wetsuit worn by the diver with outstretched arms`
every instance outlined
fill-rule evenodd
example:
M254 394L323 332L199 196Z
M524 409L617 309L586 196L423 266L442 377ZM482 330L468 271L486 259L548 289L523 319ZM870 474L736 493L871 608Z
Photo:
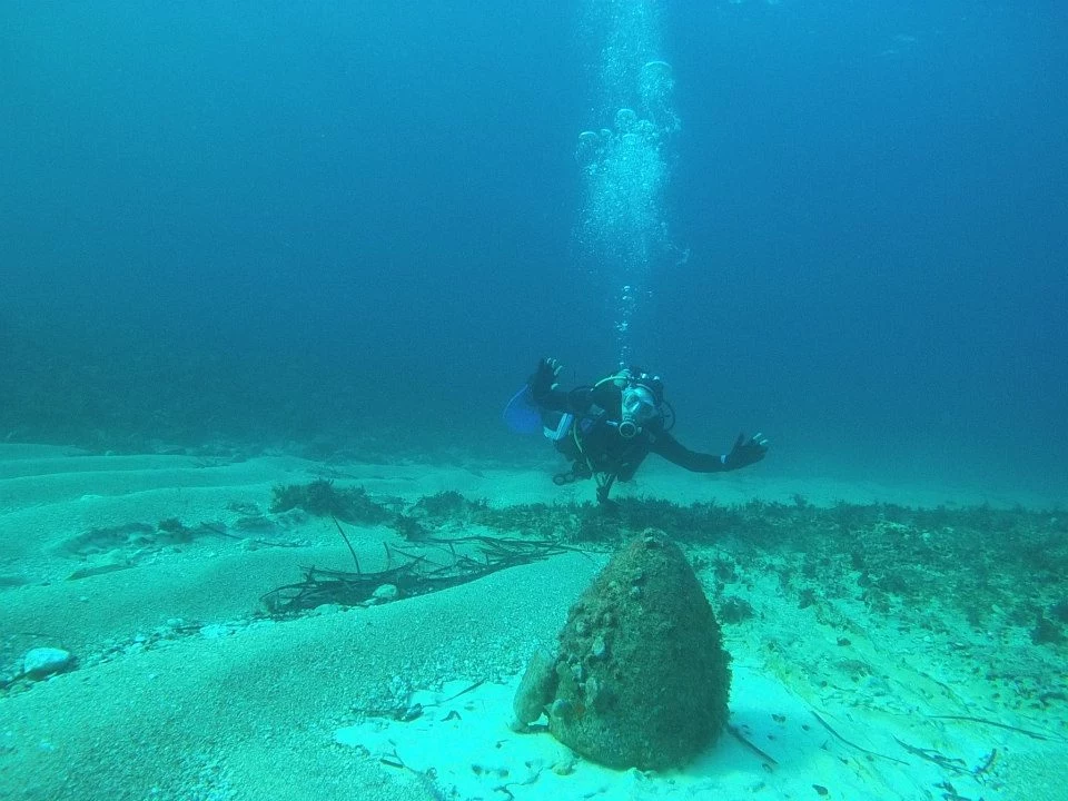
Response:
M575 415L575 426L582 432L581 447L572 434L557 442L556 447L575 462L576 467L630 481L644 458L654 453L694 473L729 469L719 454L698 453L682 445L664 431L663 417L645 423L630 439L620 436L621 389L612 382L571 392L548 389L533 397L542 409ZM589 476L590 472L576 469L572 479L582 475Z

